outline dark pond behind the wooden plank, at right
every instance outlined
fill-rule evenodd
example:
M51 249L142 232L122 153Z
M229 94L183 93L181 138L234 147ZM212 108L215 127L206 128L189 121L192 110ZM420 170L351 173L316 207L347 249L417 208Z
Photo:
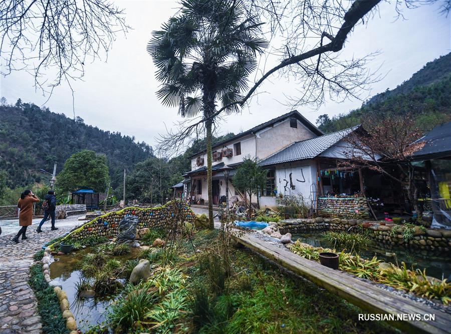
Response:
M314 247L333 248L330 244L321 239L321 233L302 233L294 234L293 240L300 240L308 243ZM337 249L341 251L341 249ZM394 254L394 256L392 255ZM439 255L422 255L418 250L405 248L385 248L382 244L372 246L368 250L360 251L359 255L366 259L377 256L379 260L384 262L392 262L394 264L401 264L405 262L409 268L412 265L423 270L426 269L428 276L436 277L438 279L447 278L451 274L451 260L449 256Z

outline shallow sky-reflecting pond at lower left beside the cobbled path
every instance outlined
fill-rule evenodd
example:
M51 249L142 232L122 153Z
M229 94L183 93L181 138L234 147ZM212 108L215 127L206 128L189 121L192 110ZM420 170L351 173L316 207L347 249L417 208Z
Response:
M95 247L88 247L68 255L55 255L54 262L50 265L50 278L59 281L62 289L67 293L70 310L75 316L77 327L85 332L90 326L101 324L105 320L105 311L115 300L116 295L105 295L102 297L79 298L77 296L77 285L83 274L79 270L79 262L83 255L95 252ZM139 249L132 248L131 252L122 256L108 256L120 261L136 258ZM119 279L124 282L125 280Z

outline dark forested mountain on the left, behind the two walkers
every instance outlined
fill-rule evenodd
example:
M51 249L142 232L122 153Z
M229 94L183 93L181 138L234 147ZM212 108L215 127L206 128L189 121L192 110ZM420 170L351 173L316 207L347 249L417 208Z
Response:
M0 171L6 171L8 187L47 179L41 168L52 172L56 161L59 172L67 158L83 149L106 155L113 188L122 182L124 168L131 171L153 155L146 143L85 125L81 118L74 121L20 100L15 106L0 107Z

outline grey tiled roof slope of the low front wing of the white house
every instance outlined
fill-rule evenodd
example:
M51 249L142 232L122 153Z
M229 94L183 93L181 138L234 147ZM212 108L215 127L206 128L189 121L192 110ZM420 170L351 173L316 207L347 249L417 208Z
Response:
M296 160L313 159L359 127L360 125L357 125L352 128L329 133L316 138L294 142L272 156L262 160L259 165L269 166Z

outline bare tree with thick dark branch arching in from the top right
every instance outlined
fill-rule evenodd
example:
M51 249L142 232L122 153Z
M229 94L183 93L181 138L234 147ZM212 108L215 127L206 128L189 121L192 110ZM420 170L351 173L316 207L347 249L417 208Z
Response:
M207 0L206 0L207 1ZM451 0L393 0L394 13L403 19L403 11L443 3L442 13L451 10ZM272 75L292 78L300 87L299 96L289 98L293 106L319 107L326 99L343 101L359 98L369 84L378 80L367 64L377 53L347 59L340 53L349 34L361 25L370 25L381 0L245 0L249 17L267 22L272 36L272 54L280 62L273 68L259 69L260 78L240 100L218 109L211 119L233 106L244 107L257 89ZM258 77L258 76L257 76ZM205 119L180 122L176 130L163 135L159 144L179 150L181 143L202 133ZM170 145L168 145L170 143ZM167 151L165 151L167 153ZM174 151L172 151L174 152Z

